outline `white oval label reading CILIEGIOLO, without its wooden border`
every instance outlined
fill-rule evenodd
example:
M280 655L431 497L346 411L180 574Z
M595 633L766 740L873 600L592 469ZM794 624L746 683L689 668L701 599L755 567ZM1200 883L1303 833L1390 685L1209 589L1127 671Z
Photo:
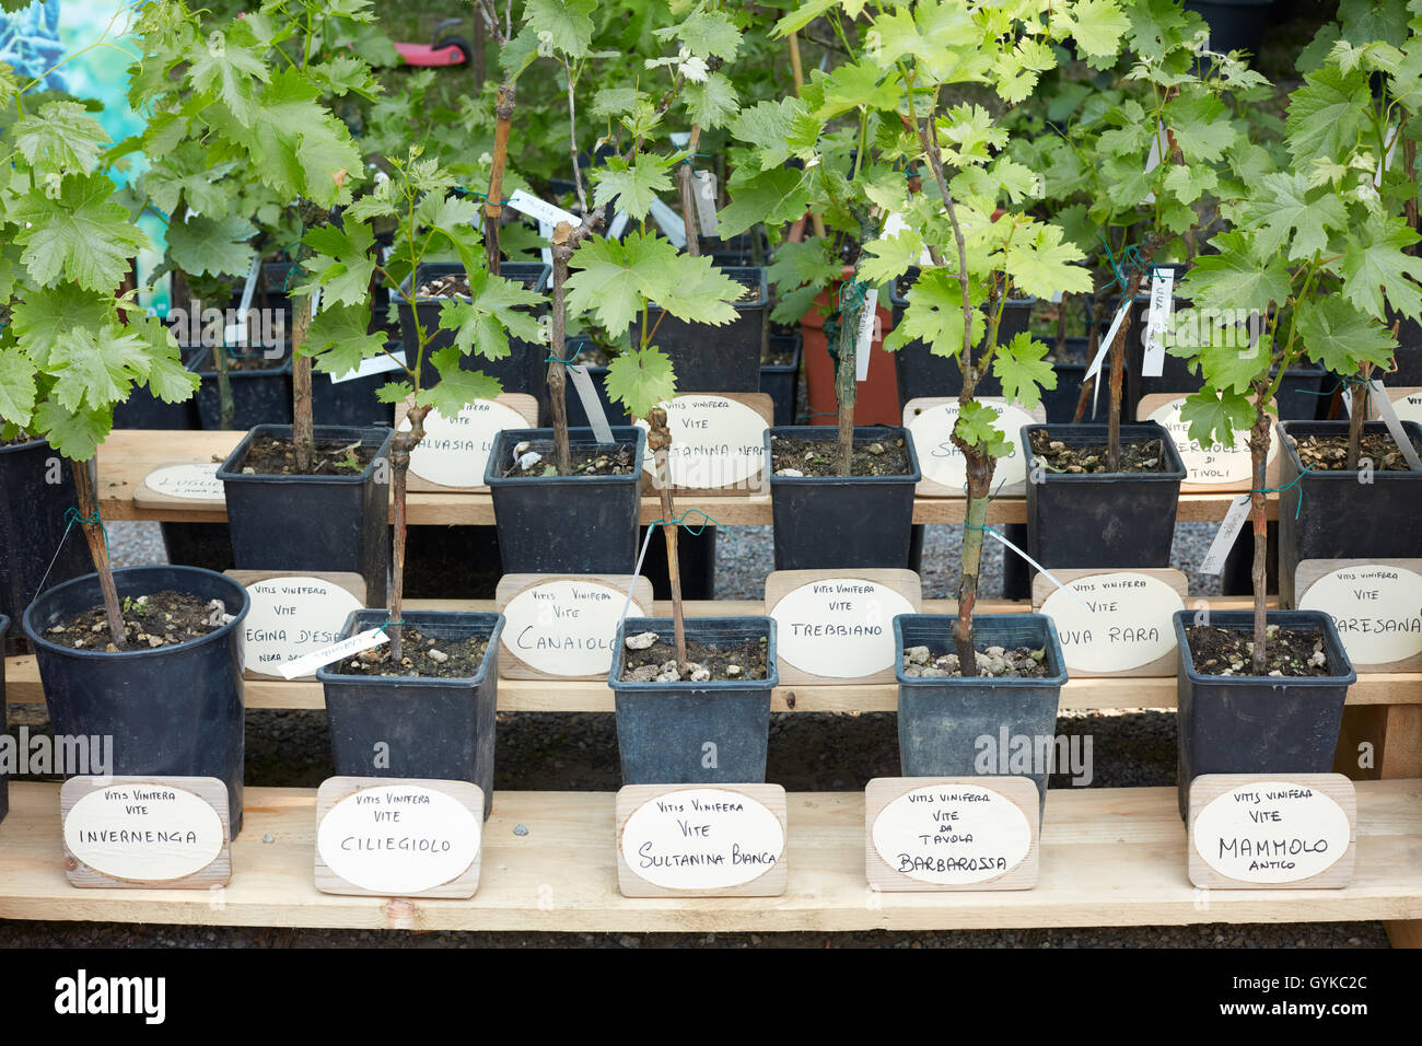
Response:
M464 875L479 855L482 827L454 796L419 784L375 784L327 811L316 847L351 885L402 897Z

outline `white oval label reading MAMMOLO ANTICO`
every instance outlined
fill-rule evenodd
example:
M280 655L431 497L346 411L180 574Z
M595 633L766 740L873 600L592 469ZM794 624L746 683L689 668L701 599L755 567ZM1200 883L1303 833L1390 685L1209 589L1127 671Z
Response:
M1239 882L1298 882L1348 852L1348 814L1317 788L1288 781L1241 784L1194 818L1194 848Z

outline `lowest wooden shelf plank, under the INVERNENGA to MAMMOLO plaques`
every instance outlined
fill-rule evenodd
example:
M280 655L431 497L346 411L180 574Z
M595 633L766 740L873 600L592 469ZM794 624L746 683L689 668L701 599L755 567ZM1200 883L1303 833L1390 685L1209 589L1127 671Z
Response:
M249 788L233 877L206 891L68 885L58 788L11 786L0 823L0 918L182 925L565 932L983 929L1422 919L1422 781L1358 786L1358 862L1347 889L1209 891L1186 875L1170 788L1054 788L1034 889L875 894L863 793L792 793L789 881L778 898L623 898L614 796L496 793L483 881L466 901L321 894L311 878L316 793ZM523 834L515 827L523 825ZM270 842L264 838L270 837Z

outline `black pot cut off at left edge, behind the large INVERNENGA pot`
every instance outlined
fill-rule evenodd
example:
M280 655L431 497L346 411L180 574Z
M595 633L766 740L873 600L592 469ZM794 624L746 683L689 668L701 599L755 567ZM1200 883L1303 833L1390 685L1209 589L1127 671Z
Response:
M68 458L44 440L0 445L0 613L18 619L41 581L54 586L94 569L78 529L65 538L74 505ZM6 656L18 653L17 640L4 640Z

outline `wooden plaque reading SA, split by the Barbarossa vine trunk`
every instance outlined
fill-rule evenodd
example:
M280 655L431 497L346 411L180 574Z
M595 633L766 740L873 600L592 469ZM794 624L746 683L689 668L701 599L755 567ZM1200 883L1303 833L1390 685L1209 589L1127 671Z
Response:
M994 428L1012 444L1012 453L997 460L993 472L995 494L1012 497L1024 494L1027 487L1027 463L1022 453L1022 426L1035 426L1047 420L1041 407L1024 410L1008 403L1001 396L978 397L978 403L997 413ZM903 424L913 434L913 447L919 453L919 495L926 498L961 498L967 482L967 468L963 451L953 445L953 427L958 423L957 398L923 397L909 400L903 406Z

